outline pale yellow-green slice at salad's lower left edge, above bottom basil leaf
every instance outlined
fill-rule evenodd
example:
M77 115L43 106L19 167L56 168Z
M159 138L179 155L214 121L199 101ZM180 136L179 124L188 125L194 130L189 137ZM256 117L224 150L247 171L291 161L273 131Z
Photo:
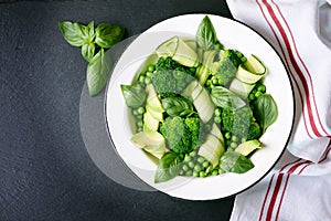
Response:
M159 159L167 151L166 139L158 131L137 133L130 138L130 141Z

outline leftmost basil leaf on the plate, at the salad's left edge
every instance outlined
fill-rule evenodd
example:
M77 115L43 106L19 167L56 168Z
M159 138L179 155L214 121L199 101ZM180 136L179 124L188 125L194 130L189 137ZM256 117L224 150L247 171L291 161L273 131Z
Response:
M128 107L140 107L146 99L146 92L139 84L120 85L121 94L125 97Z

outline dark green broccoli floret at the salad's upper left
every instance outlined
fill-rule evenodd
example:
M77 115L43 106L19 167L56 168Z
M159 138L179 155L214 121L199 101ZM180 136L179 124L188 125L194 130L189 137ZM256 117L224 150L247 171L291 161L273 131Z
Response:
M160 57L156 64L156 73L151 76L158 94L161 97L177 96L193 81L193 73L171 57Z

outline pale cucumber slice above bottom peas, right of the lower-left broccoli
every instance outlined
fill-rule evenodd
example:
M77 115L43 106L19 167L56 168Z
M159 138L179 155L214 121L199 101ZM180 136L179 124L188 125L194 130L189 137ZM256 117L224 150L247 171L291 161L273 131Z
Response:
M214 135L207 135L206 140L201 145L197 155L209 160L215 168L220 162L221 155L225 151L224 145Z

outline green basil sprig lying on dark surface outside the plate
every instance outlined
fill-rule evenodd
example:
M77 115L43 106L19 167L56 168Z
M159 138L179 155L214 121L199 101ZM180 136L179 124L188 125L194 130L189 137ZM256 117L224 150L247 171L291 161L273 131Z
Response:
M97 95L105 87L110 67L105 59L105 51L124 38L125 29L119 25L94 21L87 25L71 22L58 22L64 39L73 46L81 46L82 56L88 62L86 82L90 96Z

